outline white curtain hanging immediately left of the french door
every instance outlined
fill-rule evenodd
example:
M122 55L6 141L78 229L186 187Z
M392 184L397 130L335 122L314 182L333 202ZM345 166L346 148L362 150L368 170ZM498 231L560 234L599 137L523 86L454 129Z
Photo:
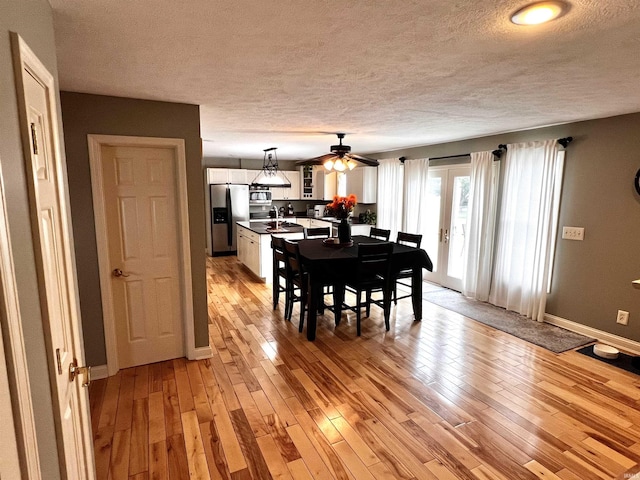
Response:
M429 159L405 160L404 162L404 219L403 231L428 234L429 209L425 199L429 191Z

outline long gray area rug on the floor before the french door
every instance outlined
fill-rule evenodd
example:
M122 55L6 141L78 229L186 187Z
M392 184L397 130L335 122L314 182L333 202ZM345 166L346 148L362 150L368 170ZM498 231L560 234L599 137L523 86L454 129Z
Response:
M537 322L485 302L466 298L448 288L435 287L425 283L422 298L555 353L562 353L595 342L594 338L585 337L548 323Z

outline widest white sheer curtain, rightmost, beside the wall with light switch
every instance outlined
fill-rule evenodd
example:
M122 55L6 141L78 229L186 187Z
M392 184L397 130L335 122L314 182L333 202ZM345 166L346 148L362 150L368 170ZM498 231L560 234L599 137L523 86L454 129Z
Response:
M489 301L544 320L562 159L556 140L509 145Z

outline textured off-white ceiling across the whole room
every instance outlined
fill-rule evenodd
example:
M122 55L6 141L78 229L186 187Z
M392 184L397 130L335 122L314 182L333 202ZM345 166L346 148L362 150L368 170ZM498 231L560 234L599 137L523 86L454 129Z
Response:
M50 0L63 90L201 106L205 156L442 143L640 111L640 2Z

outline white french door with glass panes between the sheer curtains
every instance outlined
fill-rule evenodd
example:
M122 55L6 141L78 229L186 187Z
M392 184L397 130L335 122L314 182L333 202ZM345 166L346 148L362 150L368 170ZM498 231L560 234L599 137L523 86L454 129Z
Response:
M433 262L425 279L462 290L464 243L467 233L470 165L429 168L429 206L423 248Z

